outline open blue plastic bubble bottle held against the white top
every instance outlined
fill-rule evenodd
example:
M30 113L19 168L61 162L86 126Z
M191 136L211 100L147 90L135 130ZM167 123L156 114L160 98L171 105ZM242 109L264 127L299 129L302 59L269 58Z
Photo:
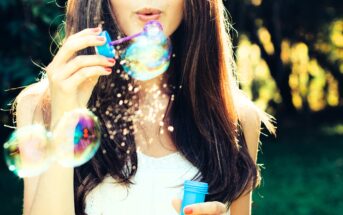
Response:
M183 209L187 205L204 202L206 194L208 194L207 183L186 180L184 183L184 192L180 215L184 215Z

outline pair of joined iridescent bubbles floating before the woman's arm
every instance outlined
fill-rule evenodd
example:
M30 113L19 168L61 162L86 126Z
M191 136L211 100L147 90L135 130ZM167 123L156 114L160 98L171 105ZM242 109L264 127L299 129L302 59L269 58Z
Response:
M4 144L4 156L10 171L32 177L46 171L52 162L76 167L89 161L100 146L97 117L87 109L66 113L53 132L42 125L17 129Z

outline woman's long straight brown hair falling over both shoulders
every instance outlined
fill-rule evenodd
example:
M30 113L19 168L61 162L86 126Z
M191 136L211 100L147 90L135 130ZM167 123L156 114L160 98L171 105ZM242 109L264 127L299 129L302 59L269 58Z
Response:
M113 38L121 34L109 0L68 1L66 37L100 22ZM171 36L176 57L166 81L173 95L167 113L177 150L199 169L194 179L209 184L206 200L230 205L254 189L260 177L235 106L238 87L228 29L221 0L185 0L182 23ZM94 50L79 54L94 54ZM129 186L136 173L133 132L124 132L133 131L130 113L137 95L130 85L134 81L117 64L113 74L101 77L93 90L88 107L100 120L101 146L90 162L75 168L76 214L84 214L86 195L105 176ZM119 99L126 101L120 107ZM261 116L272 128L268 117Z

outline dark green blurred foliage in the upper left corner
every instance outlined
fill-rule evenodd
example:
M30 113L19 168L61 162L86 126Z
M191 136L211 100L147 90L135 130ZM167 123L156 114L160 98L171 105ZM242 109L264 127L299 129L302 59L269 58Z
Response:
M35 64L44 66L51 60L56 50L52 40L63 25L64 8L51 0L2 0L0 11L0 96L5 101L0 106L4 107L13 99L4 90L33 83L41 72Z

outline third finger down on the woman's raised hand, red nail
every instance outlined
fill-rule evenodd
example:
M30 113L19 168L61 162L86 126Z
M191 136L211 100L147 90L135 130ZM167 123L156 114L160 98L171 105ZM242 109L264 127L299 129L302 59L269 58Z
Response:
M70 60L63 69L61 69L61 72L54 75L57 76L59 80L65 80L84 67L113 67L114 64L115 60L113 58L106 58L101 55L79 55Z

